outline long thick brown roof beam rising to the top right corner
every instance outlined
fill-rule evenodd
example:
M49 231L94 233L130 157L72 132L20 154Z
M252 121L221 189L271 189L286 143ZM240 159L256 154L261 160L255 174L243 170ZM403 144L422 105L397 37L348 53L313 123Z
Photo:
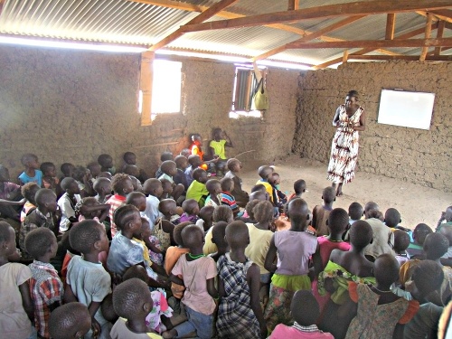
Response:
M268 14L258 14L243 18L220 20L202 24L185 24L182 32L199 32L224 28L260 26L264 24L293 23L308 19L331 18L344 15L367 15L431 11L452 6L452 0L375 0L337 5L323 5Z

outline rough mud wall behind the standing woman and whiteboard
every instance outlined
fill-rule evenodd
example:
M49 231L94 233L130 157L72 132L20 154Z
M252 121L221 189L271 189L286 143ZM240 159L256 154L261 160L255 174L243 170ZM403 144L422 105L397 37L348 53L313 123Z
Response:
M358 169L452 192L452 63L347 63L298 78L297 127L292 150L327 164L332 120L350 89L360 92L366 130L360 133ZM381 89L436 93L429 130L378 124ZM326 169L325 169L326 170Z

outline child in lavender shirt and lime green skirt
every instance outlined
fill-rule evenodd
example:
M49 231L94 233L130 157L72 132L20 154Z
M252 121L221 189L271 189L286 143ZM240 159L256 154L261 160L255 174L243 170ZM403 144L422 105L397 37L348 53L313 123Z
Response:
M291 228L273 234L264 263L268 272L273 273L264 314L270 332L276 325L292 321L289 306L293 294L298 289L311 289L308 261L318 246L315 235L306 231L310 221L307 203L300 198L293 199L287 212Z

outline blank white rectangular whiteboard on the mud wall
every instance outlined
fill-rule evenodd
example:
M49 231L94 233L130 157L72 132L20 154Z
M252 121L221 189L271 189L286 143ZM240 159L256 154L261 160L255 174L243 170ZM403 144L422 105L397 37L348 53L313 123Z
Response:
M435 93L381 89L378 123L430 129Z

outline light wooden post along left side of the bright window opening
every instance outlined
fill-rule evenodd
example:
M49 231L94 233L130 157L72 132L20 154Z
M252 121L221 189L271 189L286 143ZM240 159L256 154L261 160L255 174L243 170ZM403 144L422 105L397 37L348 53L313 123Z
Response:
M141 126L152 125L151 106L152 106L152 83L154 80L154 59L155 52L141 53L140 69L140 89L143 95L141 108Z

